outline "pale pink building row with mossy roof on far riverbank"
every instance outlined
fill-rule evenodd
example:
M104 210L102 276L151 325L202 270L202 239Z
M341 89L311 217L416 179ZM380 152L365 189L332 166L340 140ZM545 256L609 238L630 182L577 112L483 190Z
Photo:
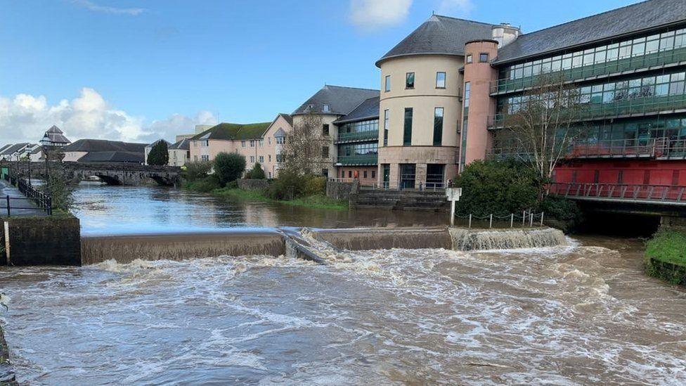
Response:
M267 178L275 178L281 146L292 124L287 114L277 115L272 122L217 124L188 140L190 160L212 161L219 153L237 153L245 156L247 170L259 162Z

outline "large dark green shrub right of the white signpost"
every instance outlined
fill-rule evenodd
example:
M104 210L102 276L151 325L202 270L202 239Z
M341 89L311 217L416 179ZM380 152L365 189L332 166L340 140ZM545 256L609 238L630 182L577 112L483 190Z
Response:
M458 212L477 216L533 209L542 186L531 167L514 160L472 162L455 184L462 188Z

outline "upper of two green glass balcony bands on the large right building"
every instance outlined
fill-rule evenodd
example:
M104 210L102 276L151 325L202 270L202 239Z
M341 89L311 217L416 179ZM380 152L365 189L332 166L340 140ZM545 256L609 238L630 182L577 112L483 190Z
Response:
M671 51L647 53L642 56L619 58L606 63L596 63L582 67L550 72L553 77L561 75L565 82L583 82L617 75L630 75L635 72L654 70L662 67L675 67L686 64L686 48ZM547 73L548 74L548 73ZM536 83L537 76L519 79L498 79L491 82L491 95L508 94L529 89Z

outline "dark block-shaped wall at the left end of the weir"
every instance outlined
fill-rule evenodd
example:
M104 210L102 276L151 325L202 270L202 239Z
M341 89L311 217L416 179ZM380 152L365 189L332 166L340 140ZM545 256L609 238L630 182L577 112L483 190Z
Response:
M4 264L81 265L81 226L69 217L4 217Z

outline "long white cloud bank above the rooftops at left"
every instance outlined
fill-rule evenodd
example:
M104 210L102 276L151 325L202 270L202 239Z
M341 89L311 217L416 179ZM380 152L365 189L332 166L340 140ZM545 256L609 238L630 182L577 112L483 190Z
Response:
M143 117L112 108L98 91L89 88L82 89L72 101L63 99L56 105L48 104L45 96L0 96L0 146L38 142L53 124L72 141L88 138L150 143L160 138L173 141L176 134L193 133L195 124L214 123L212 112L203 110L193 118L174 114L146 125Z

